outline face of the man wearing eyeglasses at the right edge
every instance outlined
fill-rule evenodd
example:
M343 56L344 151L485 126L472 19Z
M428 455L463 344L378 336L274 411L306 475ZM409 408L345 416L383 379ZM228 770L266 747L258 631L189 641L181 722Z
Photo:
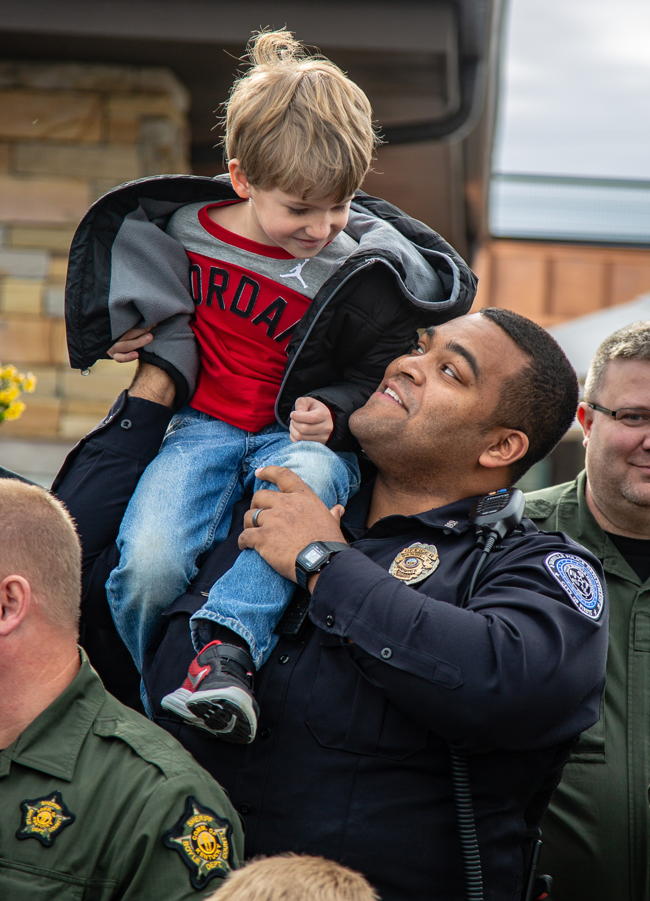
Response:
M650 410L650 361L611 359L599 396L609 410ZM620 505L621 496L636 507L650 506L650 429L631 428L613 417L581 404L591 494L608 507ZM608 503L609 502L609 503ZM625 528L625 523L620 523Z

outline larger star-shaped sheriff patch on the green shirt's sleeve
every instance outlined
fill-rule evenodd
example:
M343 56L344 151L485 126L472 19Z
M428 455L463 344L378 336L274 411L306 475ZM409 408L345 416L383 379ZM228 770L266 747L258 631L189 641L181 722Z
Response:
M167 848L178 851L189 869L193 888L204 888L215 876L224 877L232 869L233 827L214 810L189 795L178 823L162 836Z

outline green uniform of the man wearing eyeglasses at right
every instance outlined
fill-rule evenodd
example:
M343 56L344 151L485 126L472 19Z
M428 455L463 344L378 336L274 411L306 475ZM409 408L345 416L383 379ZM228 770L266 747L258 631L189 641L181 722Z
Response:
M583 733L542 824L541 871L557 901L648 901L650 579L643 585L590 513L584 471L526 495L526 516L598 557L609 591L600 722Z

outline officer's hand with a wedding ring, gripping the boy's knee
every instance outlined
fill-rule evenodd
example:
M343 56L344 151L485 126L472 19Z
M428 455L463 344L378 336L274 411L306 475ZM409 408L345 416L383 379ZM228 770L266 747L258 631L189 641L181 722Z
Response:
M257 478L272 482L279 491L261 489L252 496L251 509L243 517L240 548L253 548L280 576L296 581L296 558L310 542L344 542L339 522L343 507L328 510L295 472L281 466L257 469ZM258 527L252 514L260 509Z

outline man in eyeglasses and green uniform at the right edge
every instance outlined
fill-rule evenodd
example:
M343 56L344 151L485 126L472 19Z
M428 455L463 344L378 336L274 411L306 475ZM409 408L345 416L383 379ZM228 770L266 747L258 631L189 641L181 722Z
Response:
M540 530L601 561L609 655L600 722L583 733L542 826L554 901L650 898L650 321L603 341L578 408L575 481L527 496Z

